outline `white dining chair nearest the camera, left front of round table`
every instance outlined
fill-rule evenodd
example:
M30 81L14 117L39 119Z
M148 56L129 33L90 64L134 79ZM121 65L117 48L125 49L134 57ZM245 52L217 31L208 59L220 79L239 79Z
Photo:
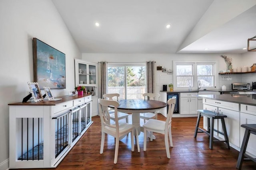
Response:
M132 151L134 151L134 126L128 123L119 123L116 116L114 124L110 124L110 115L108 112L108 106L114 106L114 114L117 115L117 107L119 103L112 100L98 99L99 102L99 113L101 121L101 144L100 144L100 154L103 153L105 134L111 135L116 139L115 155L114 155L114 164L117 163L118 158L118 149L119 149L119 140L128 133L131 135L131 146ZM138 144L138 132L136 131L136 139ZM138 145L139 150L139 145Z

